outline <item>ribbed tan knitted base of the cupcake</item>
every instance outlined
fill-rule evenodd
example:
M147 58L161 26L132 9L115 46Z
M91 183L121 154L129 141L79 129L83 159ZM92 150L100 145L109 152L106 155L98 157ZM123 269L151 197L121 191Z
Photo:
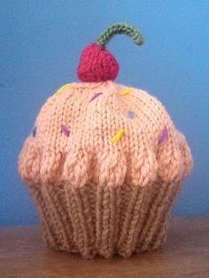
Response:
M28 185L35 199L43 239L59 251L100 254L151 251L166 241L170 208L180 184L118 188L85 185Z

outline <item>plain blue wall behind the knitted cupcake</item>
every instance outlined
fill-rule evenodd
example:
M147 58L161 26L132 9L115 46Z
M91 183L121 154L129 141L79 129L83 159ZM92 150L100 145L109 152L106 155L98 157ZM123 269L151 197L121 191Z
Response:
M108 44L117 81L148 90L186 135L195 160L174 214L209 213L209 2L0 0L0 225L37 222L17 174L35 116L59 86L76 81L81 49L113 22L139 27Z

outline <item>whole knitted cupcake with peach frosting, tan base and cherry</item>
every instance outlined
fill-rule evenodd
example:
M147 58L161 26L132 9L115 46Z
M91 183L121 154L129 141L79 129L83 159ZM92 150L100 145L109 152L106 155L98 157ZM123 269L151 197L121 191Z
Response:
M82 50L78 77L43 105L19 154L19 174L35 200L43 239L58 251L129 257L166 240L170 209L192 158L164 106L116 83L112 35L141 45L113 24Z

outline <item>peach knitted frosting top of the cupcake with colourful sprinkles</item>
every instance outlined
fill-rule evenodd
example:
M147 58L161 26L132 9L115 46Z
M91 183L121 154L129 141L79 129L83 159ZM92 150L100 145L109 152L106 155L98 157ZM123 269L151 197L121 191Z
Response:
M123 94L124 89L114 81L82 82L51 96L35 121L36 134L27 137L20 153L23 180L146 186L189 174L190 149L164 106L141 89Z

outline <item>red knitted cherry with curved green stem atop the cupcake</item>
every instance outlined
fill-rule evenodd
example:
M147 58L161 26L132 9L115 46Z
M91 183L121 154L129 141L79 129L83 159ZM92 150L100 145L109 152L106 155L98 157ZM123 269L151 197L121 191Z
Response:
M126 23L115 23L99 35L96 42L91 42L81 52L77 74L81 81L113 81L119 73L119 64L105 45L113 35L129 35L137 45L143 44L143 37L133 26Z

